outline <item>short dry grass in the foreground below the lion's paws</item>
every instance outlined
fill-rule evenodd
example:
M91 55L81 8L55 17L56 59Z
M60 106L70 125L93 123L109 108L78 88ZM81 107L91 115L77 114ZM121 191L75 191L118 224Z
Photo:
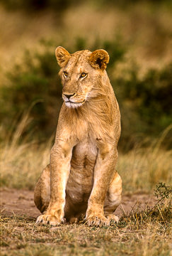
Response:
M168 202L169 203L169 202ZM84 223L50 227L35 220L1 217L1 255L170 255L171 223L165 209L123 215L108 228ZM168 206L167 206L168 209ZM169 210L169 209L168 209Z

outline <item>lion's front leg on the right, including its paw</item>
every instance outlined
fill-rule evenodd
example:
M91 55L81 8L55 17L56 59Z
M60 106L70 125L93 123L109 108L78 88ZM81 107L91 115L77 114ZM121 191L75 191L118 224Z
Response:
M99 148L94 169L93 189L86 210L86 222L88 225L110 225L110 220L105 218L103 206L108 186L114 176L116 161L117 150L114 151L111 146L104 145Z

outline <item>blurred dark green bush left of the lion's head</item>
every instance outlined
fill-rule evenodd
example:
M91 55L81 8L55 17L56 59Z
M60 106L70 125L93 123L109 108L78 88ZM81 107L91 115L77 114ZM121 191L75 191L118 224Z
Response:
M8 85L1 86L0 99L0 118L5 126L11 127L12 120L20 119L23 111L35 102L30 112L33 122L26 132L34 127L37 137L50 135L57 125L55 113L62 102L55 54L47 45L43 53L26 50L22 65L15 65L7 77Z

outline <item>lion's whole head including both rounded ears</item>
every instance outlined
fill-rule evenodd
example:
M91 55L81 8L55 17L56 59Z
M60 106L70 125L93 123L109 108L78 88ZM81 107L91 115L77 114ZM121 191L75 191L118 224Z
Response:
M105 50L81 50L70 55L59 46L56 49L57 62L61 66L62 97L67 107L81 107L91 98L92 89L98 77L105 70L109 57Z

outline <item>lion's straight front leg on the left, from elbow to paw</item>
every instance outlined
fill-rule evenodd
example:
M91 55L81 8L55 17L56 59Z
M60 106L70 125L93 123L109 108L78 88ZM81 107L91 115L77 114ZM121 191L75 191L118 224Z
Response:
M65 190L70 171L72 147L57 143L50 155L50 204L37 223L59 225L64 223Z

